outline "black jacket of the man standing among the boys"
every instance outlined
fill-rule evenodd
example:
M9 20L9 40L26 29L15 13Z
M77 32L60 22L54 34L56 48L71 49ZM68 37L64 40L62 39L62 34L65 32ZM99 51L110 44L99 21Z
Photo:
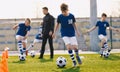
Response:
M42 27L42 34L49 35L50 31L54 31L54 24L55 19L49 13L43 18L43 27Z

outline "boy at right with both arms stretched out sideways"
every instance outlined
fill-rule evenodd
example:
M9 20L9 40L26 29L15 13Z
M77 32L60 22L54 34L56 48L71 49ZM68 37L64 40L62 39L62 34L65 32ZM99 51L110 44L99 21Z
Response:
M110 52L111 50L108 48L107 44L107 33L106 29L114 30L114 31L119 31L118 29L115 29L111 26L109 26L109 23L106 21L107 15L105 13L102 14L101 20L97 21L96 26L92 27L89 29L87 32L91 32L95 30L98 27L98 37L101 40L101 56L103 55L104 50L108 50Z

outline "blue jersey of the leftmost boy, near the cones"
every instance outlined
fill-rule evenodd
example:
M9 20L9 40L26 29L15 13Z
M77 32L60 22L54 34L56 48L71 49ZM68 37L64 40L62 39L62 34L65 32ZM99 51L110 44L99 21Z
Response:
M25 23L20 23L18 26L18 32L16 35L25 36L27 34L27 31L30 31L31 26L26 26Z

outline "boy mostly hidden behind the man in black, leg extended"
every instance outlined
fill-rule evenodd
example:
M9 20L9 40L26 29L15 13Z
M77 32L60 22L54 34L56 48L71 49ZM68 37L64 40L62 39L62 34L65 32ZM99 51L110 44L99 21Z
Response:
M42 42L42 26L39 27L38 34L36 34L33 43L27 48L27 51L34 47L35 43Z

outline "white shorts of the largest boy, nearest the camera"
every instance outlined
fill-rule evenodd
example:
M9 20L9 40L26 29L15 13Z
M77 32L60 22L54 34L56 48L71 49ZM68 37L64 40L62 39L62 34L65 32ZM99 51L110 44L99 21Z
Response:
M76 39L75 36L74 37L67 37L67 36L65 36L62 39L63 39L65 45L68 45L68 44L70 44L70 45L78 45L77 39Z

